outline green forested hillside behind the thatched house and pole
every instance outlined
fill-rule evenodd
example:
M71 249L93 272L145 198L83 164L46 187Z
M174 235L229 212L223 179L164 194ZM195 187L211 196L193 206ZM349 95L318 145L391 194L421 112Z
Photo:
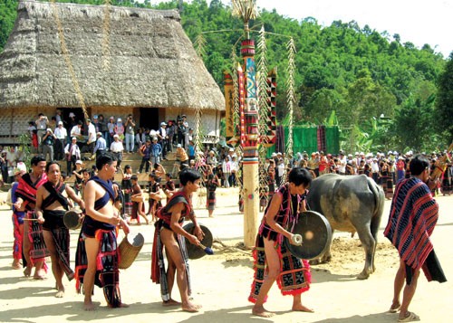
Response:
M57 1L104 3L104 0ZM159 5L150 5L149 0L111 0L111 4L178 9L191 41L195 43L200 34L206 40L203 60L223 88L223 71L234 66L232 52L240 57L240 42L244 38L243 22L232 16L230 6L220 0L212 0L209 5L206 0L193 0L189 4L172 0ZM4 0L0 4L0 51L13 28L16 5L17 0ZM269 68L276 66L279 71L277 119L287 115L286 43L293 37L297 50L296 123L320 123L334 113L343 133L350 136L343 148L353 150L357 145L365 145L362 125L373 118L379 120L381 115L389 118L390 126L383 132L373 130L372 145L386 141L396 149L420 150L442 147L453 139L451 55L445 60L428 44L418 49L413 43L400 43L398 33L390 37L387 32L380 33L368 24L361 27L354 21L334 21L330 26L322 26L315 17L297 21L275 10L262 9L250 26L255 39L261 26L265 27L267 62ZM379 123L375 126L380 127ZM423 127L436 128L442 135L429 136Z

